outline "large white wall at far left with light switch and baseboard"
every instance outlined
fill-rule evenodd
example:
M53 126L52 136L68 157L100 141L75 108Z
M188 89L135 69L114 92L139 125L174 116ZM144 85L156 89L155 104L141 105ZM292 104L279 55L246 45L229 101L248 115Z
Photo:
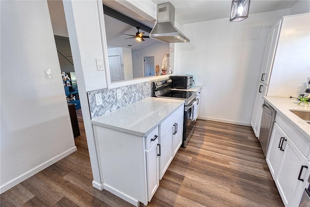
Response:
M0 191L74 152L47 1L1 1ZM51 69L46 79L44 69Z

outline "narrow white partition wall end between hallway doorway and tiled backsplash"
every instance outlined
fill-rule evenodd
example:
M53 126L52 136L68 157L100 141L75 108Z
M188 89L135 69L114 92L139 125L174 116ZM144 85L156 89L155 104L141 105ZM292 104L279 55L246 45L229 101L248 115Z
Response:
M102 1L65 0L63 1L63 7L92 164L93 186L102 190L101 180L103 178L100 177L99 172L87 97L87 92L107 87L105 70L98 71L95 61L95 58L103 58L106 55L104 54L101 36L101 33L104 33L102 29L104 28Z

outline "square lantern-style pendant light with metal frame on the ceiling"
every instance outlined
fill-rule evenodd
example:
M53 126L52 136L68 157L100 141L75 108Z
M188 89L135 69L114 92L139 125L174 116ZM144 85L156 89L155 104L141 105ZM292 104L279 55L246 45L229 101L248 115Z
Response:
M233 0L230 21L242 21L248 18L250 0Z

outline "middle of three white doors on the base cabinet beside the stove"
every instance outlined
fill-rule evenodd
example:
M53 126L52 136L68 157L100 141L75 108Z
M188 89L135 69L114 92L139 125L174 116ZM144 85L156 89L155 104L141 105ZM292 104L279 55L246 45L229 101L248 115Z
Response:
M173 158L172 151L172 132L174 131L174 127L171 125L164 133L161 133L159 142L160 142L160 157L159 157L159 179L161 179L169 164Z

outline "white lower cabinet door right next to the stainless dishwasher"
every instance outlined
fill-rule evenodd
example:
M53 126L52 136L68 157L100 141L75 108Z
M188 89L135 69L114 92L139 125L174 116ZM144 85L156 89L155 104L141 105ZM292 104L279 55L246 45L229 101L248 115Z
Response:
M282 142L286 138L286 134L282 131L279 125L275 123L266 156L266 162L274 180L276 180L277 171L283 155L283 151L279 147L281 147L281 145L282 149L285 147L286 143Z

